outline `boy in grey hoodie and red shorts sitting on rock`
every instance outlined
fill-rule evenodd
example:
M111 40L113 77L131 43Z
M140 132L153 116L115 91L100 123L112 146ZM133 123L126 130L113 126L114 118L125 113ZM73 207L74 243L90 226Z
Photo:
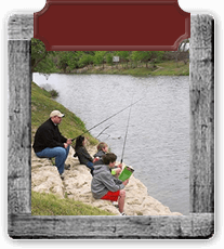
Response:
M91 182L91 192L95 199L106 199L118 201L118 207L121 215L123 213L126 191L124 186L129 180L124 182L111 175L110 169L115 167L117 156L114 153L108 153L102 157L103 163L94 166L94 175Z

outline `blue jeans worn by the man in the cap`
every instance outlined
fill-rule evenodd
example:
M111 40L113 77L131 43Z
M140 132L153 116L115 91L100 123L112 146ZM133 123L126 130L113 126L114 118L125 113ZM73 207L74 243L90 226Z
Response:
M54 148L44 148L42 152L36 153L40 158L52 158L55 157L55 163L60 174L64 172L65 160L68 156L70 145L67 148L54 147Z

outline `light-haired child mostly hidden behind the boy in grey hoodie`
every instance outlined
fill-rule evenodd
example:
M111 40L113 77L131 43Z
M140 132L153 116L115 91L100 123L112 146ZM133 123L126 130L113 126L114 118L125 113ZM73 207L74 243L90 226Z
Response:
M106 153L108 153L108 145L106 143L104 143L104 142L101 142L97 145L97 153L93 156L94 157L94 159L93 159L93 166L103 165L102 157ZM118 166L118 168L116 167L116 169L111 170L111 174L118 176L120 174L121 170L122 170L122 165L120 163Z

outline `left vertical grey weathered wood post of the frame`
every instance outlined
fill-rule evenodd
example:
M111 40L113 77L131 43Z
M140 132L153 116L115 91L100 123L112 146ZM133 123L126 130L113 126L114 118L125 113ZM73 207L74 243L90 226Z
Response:
M31 213L31 42L19 30L8 37L8 214Z

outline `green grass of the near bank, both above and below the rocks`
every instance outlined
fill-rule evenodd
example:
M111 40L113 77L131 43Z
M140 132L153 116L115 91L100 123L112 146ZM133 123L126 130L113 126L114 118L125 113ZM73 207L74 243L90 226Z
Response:
M60 124L60 130L66 137L75 137L85 131L84 123L75 114L63 105L51 99L51 94L31 83L31 131L32 140L37 128L49 118L53 109L60 109L65 117ZM92 145L97 144L97 140L87 135ZM65 198L60 199L52 194L31 192L31 214L32 215L113 215L98 208L93 208L80 201Z

